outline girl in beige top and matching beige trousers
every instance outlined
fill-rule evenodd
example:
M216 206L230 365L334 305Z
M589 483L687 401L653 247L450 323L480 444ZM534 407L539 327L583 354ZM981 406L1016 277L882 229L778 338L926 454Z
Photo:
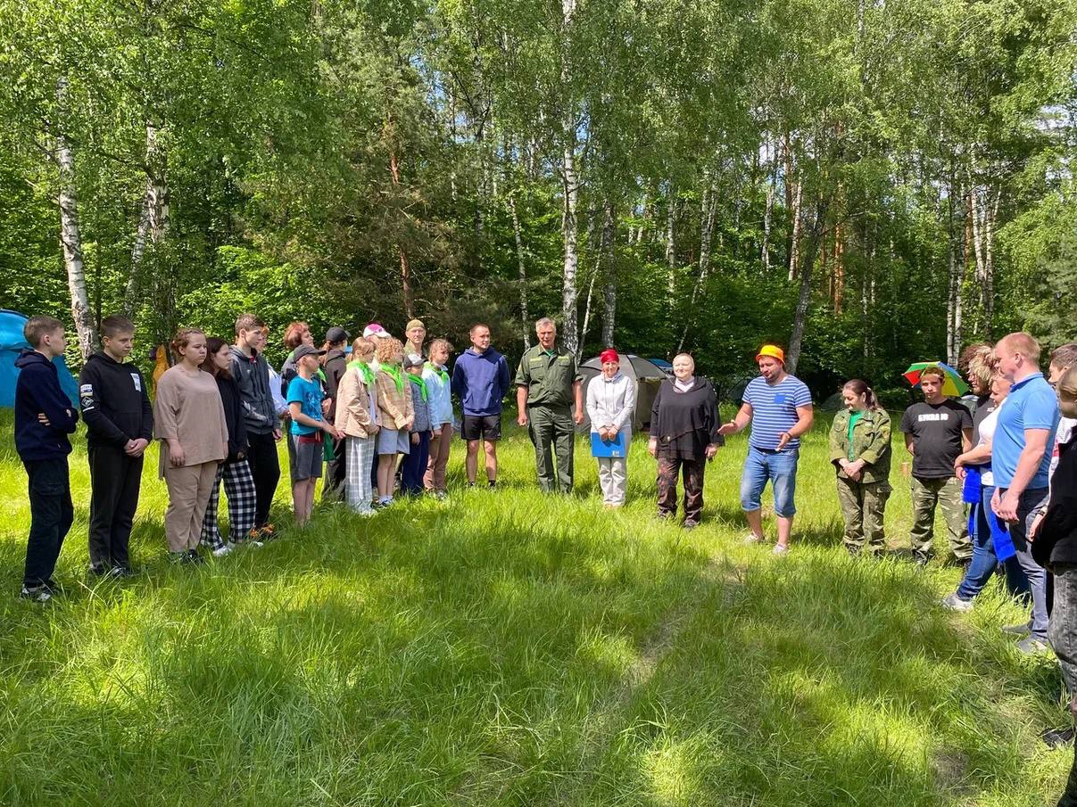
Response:
M228 455L228 427L213 376L201 369L206 335L183 328L172 340L180 362L157 382L153 423L160 440L160 476L168 486L165 537L172 557L200 563L198 541L216 466Z

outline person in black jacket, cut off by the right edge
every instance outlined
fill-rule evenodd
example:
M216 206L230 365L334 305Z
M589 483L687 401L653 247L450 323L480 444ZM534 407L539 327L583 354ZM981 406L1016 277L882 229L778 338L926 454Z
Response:
M1059 379L1059 409L1077 417L1077 367ZM1069 712L1077 721L1077 437L1059 447L1047 512L1033 528L1032 555L1054 576L1054 606L1047 636L1069 690ZM1059 807L1077 807L1077 758Z

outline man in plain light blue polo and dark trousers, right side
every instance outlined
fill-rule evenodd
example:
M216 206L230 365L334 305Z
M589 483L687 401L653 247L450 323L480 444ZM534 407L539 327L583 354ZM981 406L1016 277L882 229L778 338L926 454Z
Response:
M1024 653L1036 653L1047 643L1047 571L1032 557L1029 532L1036 514L1047 505L1048 475L1054 431L1059 426L1059 399L1039 371L1039 343L1027 334L1010 334L995 345L998 372L1012 382L1005 406L998 409L991 442L991 470L995 494L991 509L1008 522L1018 564L1029 578L1032 619L1013 625L1011 633L1027 632L1018 642Z

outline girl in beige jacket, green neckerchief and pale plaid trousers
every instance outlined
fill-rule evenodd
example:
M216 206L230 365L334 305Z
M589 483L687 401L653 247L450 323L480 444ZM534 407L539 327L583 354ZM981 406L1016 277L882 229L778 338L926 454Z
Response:
M345 500L348 507L363 515L374 513L370 500L374 489L370 469L374 465L375 440L378 434L378 398L374 383L374 342L360 337L351 346L348 371L340 378L336 398L336 425L347 441L345 461Z

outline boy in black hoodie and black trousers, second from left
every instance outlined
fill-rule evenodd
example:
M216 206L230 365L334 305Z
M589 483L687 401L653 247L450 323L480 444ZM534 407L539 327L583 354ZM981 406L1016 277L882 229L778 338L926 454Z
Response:
M153 407L130 355L135 323L101 321L101 352L79 374L89 454L89 574L129 575L128 544L142 481L142 455L153 439Z

